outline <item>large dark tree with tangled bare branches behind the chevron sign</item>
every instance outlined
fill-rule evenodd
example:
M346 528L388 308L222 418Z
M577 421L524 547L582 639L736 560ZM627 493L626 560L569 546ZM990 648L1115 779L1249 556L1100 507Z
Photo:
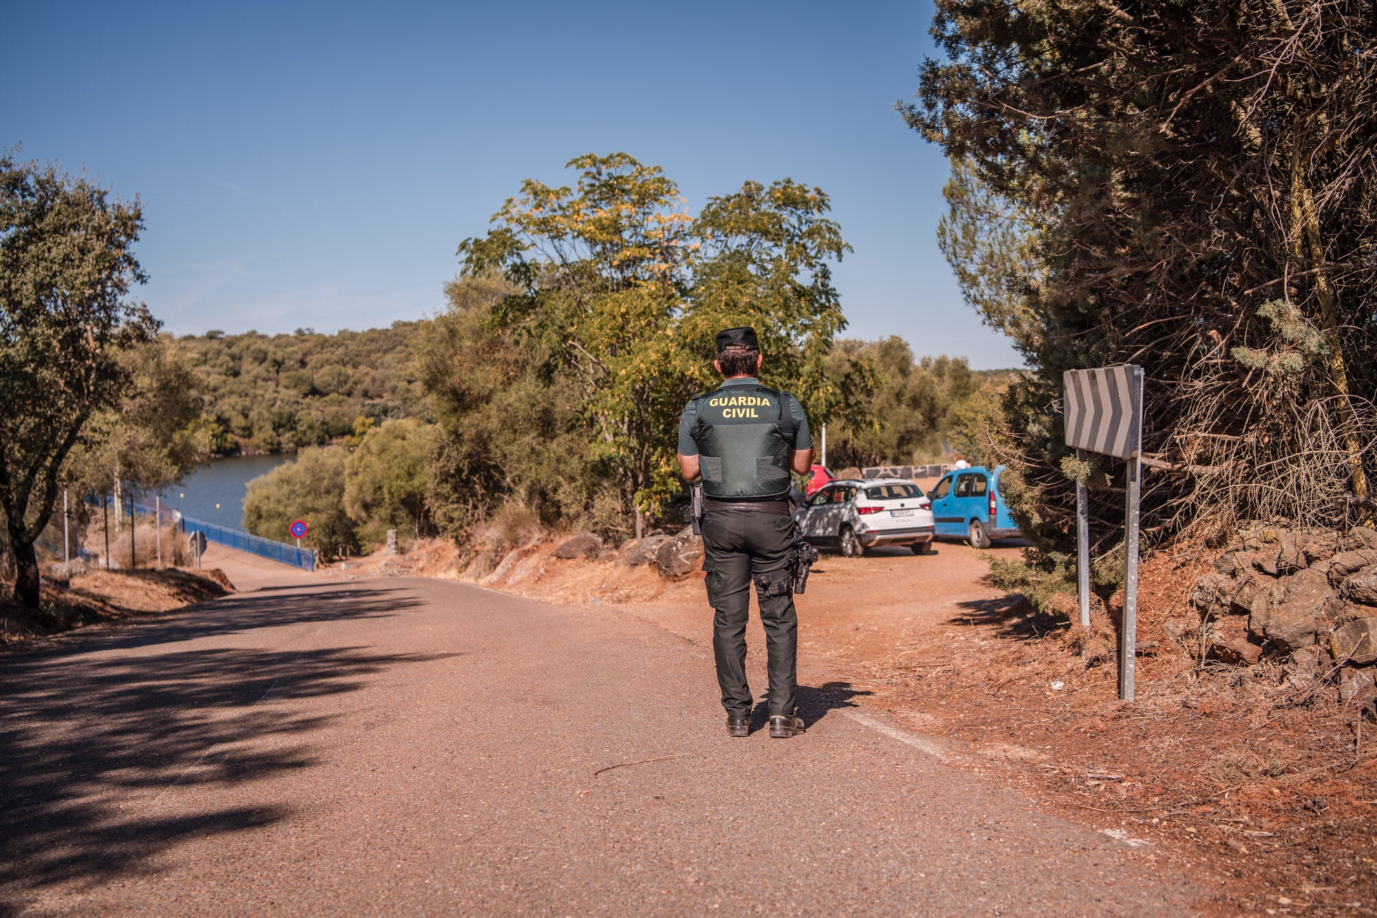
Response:
M934 34L905 116L957 164L946 248L968 296L1033 368L1004 411L1027 531L1051 550L1073 527L1062 372L1115 363L1147 378L1148 539L1202 513L1369 514L1370 4L938 0ZM1033 232L1001 241L989 214ZM1008 263L1024 251L1031 270ZM1095 529L1121 521L1093 491Z

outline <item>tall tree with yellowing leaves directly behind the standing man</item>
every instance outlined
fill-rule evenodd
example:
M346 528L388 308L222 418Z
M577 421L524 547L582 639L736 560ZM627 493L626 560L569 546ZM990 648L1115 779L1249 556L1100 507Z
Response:
M719 328L755 323L767 379L797 391L815 420L844 402L822 361L844 327L829 261L845 243L826 196L790 181L748 182L694 221L660 167L625 153L567 165L577 186L527 179L497 227L459 251L465 276L496 272L518 288L493 325L529 342L545 379L577 386L593 458L609 463L640 535L682 489L672 430L684 401L716 385Z

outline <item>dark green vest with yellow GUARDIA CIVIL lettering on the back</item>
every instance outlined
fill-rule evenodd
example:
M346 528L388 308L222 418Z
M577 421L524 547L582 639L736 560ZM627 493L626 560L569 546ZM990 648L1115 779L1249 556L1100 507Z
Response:
M796 425L789 393L759 383L698 396L688 436L698 445L702 492L715 500L772 500L789 493Z

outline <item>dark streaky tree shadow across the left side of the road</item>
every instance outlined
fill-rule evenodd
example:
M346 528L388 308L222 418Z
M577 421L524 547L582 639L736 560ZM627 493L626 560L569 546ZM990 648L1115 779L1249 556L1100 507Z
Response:
M153 871L180 841L288 816L277 804L189 812L186 795L167 791L308 768L306 735L332 718L275 702L353 692L387 667L453 656L156 645L413 602L397 590L245 595L0 657L0 915L25 892ZM110 649L136 652L99 653Z

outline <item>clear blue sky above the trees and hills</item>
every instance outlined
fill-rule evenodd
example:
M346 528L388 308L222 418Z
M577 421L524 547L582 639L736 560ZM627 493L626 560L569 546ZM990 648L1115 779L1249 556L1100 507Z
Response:
M0 33L0 146L138 194L167 328L386 325L526 176L625 150L690 208L822 187L855 247L847 335L1019 365L936 247L947 164L891 110L931 3L29 3Z

